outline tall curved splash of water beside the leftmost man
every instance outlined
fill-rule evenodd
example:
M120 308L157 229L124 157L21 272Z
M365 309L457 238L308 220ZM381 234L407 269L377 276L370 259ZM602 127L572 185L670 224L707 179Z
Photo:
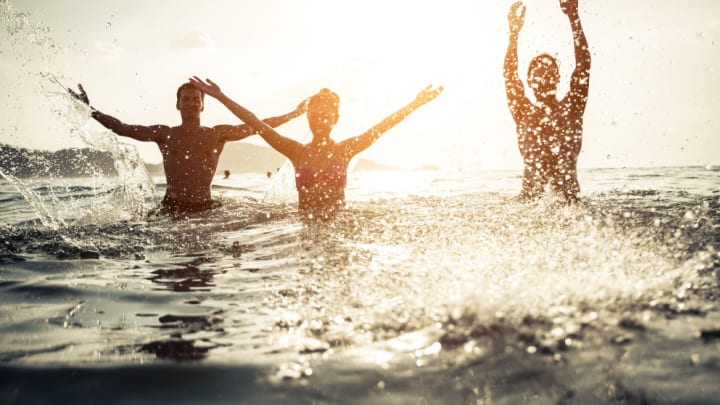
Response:
M94 172L89 179L96 200L93 204L86 204L79 200L59 201L54 192L36 193L33 182L13 177L9 173L0 173L3 178L13 184L35 208L40 221L51 228L65 226L68 220L93 223L97 221L115 221L118 219L133 219L144 215L145 201L154 198L155 185L145 168L137 148L120 143L115 135L109 131L98 131L91 125L90 110L87 106L77 102L67 92L67 87L61 84L59 76L53 73L54 60L58 54L65 52L50 36L49 28L34 22L29 13L15 10L9 1L0 3L0 23L3 25L8 39L8 45L18 63L27 66L40 80L32 80L38 86L35 89L36 97L44 102L54 101L50 109L57 117L63 120L62 125L68 128L70 134L79 136L80 141L95 150L108 152L114 160L117 179L103 178L92 163L87 162L90 171ZM27 80L18 78L17 83ZM38 103L41 105L41 103ZM18 131L17 128L14 129ZM35 158L33 162L39 168L49 168L47 162ZM57 174L45 172L46 179L57 180ZM51 187L62 185L62 181L51 181ZM69 187L68 185L64 186ZM113 187L108 193L107 188Z

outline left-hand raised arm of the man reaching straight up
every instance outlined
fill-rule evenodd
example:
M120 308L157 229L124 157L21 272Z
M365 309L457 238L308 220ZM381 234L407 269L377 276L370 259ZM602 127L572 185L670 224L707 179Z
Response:
M510 107L513 117L515 117L519 112L520 105L525 99L525 87L518 74L517 56L518 37L525 23L525 5L523 5L522 2L514 3L510 7L508 23L510 25L510 39L505 54L503 76L505 76L505 94L507 95L508 106Z

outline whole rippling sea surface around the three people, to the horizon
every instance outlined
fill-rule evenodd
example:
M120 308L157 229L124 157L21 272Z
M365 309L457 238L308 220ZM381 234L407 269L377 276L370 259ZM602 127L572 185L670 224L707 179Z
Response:
M354 174L317 223L262 176L180 221L112 179L0 183L0 404L720 403L720 172L518 184Z

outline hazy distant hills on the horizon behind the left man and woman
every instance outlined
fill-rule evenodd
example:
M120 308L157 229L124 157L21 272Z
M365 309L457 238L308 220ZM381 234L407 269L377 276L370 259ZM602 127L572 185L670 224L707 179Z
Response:
M225 145L217 171L222 173L274 172L283 165L285 157L274 149L249 143ZM162 176L161 163L145 163L153 176ZM15 177L93 177L117 176L109 152L89 148L40 151L0 144L0 170ZM360 159L355 170L398 170L367 159Z

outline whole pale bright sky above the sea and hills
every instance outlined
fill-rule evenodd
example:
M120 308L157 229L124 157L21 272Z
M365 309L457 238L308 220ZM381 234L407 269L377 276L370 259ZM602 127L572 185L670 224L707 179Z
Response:
M0 142L82 146L41 72L82 82L96 108L133 124L178 124L175 91L191 75L212 78L261 117L329 87L341 97L337 140L434 84L445 92L363 157L519 168L502 76L511 3L0 0ZM566 91L567 18L557 0L525 4L521 77L533 56L549 52L560 59ZM19 28L22 19L8 7L29 13L29 25ZM719 164L720 1L580 0L580 12L593 66L579 165ZM208 99L203 123L238 120ZM304 118L280 132L310 136ZM153 144L127 142L146 160L160 160Z

